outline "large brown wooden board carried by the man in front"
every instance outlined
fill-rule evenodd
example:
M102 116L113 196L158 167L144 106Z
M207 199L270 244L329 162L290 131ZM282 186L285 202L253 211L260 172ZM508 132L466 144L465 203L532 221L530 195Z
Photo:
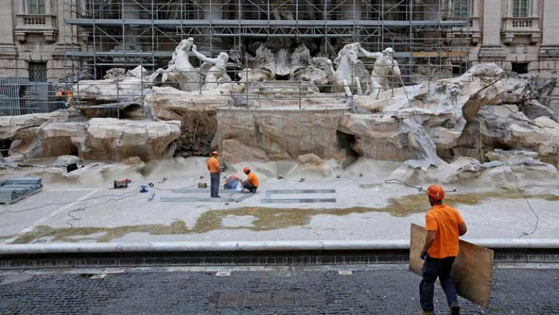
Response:
M421 275L423 261L419 257L427 230L412 224L409 240L409 270ZM460 240L460 254L454 261L451 276L456 283L456 291L461 297L486 309L491 298L493 280L493 251Z

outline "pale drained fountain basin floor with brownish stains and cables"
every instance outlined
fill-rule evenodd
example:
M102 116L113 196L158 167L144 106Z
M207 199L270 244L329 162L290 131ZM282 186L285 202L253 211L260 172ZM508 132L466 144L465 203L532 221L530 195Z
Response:
M155 168L124 190L109 189L112 177L106 175L101 184L89 177L81 182L51 181L41 193L0 207L0 243L405 240L409 224L423 225L429 209L426 196L417 189L384 184L391 169L382 168L363 176L345 174L304 182L268 176L261 179L258 193L240 203L159 201L186 196L173 189L193 189L203 182L198 175L204 174L203 161L198 164L180 171L166 166L167 173ZM159 183L163 176L168 180ZM140 184L147 182L155 183L148 187L156 194L151 201L150 193L139 193ZM336 203L262 204L268 189L295 192L274 195L281 198L298 196L300 189L335 189L335 193L299 196L324 195L335 198ZM205 192L195 196L209 197ZM559 186L542 183L522 193L539 217L535 232L525 236L523 233L534 230L536 217L515 189L458 187L458 192L447 193L446 202L460 210L469 238L559 235Z

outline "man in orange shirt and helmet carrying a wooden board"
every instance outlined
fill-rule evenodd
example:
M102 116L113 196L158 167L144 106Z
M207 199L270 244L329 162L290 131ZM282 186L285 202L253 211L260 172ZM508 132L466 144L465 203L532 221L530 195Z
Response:
M432 208L425 215L427 236L425 246L421 251L423 269L421 284L419 284L419 300L421 301L420 315L435 314L433 294L435 281L440 280L442 290L447 295L447 302L451 315L460 314L456 286L450 276L454 258L458 256L458 237L466 233L467 227L458 210L442 203L444 190L439 184L427 189Z

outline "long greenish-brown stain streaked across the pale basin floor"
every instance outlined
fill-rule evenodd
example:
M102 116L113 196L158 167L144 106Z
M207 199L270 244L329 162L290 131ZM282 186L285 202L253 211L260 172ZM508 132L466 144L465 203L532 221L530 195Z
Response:
M559 196L552 194L530 195L526 198L537 198L550 201L559 201ZM445 199L449 205L477 205L491 199L521 199L522 197L514 191L484 192L484 193L449 193ZM129 233L148 233L150 235L187 235L196 233L207 233L212 230L277 230L293 226L305 226L309 224L312 217L319 214L346 216L349 214L360 214L368 212L388 212L395 217L405 217L409 214L426 212L430 205L425 194L389 198L388 205L383 207L349 207L344 209L296 209L296 208L270 208L270 207L241 207L231 210L212 210L204 212L192 228L188 228L184 221L176 220L166 224L144 224L139 226L119 226L116 228L51 228L49 226L38 226L35 230L17 237L12 244L28 244L35 242L38 238L52 238L52 242L80 242L83 240L94 240L96 242L110 242L124 237ZM254 220L250 226L224 226L223 219L228 215L252 216ZM100 234L100 236L94 236ZM10 238L7 235L1 238Z

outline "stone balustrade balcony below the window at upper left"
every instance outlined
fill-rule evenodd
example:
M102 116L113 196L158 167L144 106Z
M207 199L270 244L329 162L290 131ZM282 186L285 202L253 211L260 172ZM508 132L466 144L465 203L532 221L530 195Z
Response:
M24 43L27 40L27 34L31 33L42 34L48 43L55 42L58 33L56 16L48 14L18 14L17 24L14 29L17 41Z

